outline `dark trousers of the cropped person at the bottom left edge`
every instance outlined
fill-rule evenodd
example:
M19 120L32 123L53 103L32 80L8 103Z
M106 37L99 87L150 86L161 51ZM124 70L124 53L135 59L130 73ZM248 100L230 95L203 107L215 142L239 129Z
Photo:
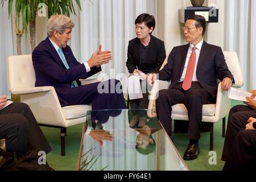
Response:
M0 110L0 139L5 139L6 151L23 155L27 150L52 150L36 119L26 104L16 103Z

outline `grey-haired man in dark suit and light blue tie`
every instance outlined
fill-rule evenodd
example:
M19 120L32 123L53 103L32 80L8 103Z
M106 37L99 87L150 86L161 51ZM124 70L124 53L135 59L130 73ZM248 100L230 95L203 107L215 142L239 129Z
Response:
M101 51L99 46L87 62L79 63L71 48L67 46L74 26L73 20L64 15L53 15L49 18L48 37L32 53L36 76L35 86L53 86L61 106L92 104L93 110L125 109L125 100L119 81L108 80L101 84L97 82L81 85L79 79L88 78L100 72L101 65L109 63L112 59L112 53Z

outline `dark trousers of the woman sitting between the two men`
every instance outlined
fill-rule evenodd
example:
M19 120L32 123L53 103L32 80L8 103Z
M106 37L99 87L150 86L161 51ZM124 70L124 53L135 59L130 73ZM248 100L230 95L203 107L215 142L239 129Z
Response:
M148 92L147 92L147 82L146 80L140 81L141 87L142 87L142 95L143 98L135 99L135 100L130 100L131 104L131 109L133 114L139 114L141 116L147 115L147 111L145 110L140 110L138 111L137 109L147 109L148 107Z

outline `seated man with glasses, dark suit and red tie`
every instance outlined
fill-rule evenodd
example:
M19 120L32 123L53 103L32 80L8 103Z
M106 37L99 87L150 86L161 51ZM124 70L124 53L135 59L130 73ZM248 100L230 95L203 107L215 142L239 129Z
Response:
M183 29L189 44L174 47L168 63L159 72L159 80L171 80L169 89L160 90L156 100L156 114L170 137L172 106L182 103L188 110L189 144L183 156L185 160L196 159L199 155L203 105L216 102L216 76L222 81L223 90L228 90L234 82L221 48L204 42L205 28L203 16L189 16ZM155 79L155 74L148 76L150 84Z

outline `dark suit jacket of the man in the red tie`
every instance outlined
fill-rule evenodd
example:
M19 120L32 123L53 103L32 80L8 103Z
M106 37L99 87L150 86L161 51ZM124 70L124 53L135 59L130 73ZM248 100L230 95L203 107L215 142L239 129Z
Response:
M174 47L168 57L168 63L159 72L159 80L170 81L170 89L177 84L183 73L189 44ZM221 81L230 77L234 83L234 77L226 65L221 47L203 43L197 63L196 77L200 85L212 96L209 102L215 102L217 96L217 79Z

